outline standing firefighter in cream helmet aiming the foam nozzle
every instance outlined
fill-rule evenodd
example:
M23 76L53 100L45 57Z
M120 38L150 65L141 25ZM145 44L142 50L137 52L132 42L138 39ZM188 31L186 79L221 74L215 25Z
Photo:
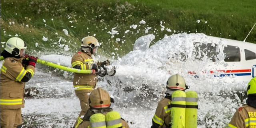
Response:
M98 81L97 75L102 75L103 72L98 70L98 65L108 65L109 61L95 62L92 58L93 54L97 53L100 46L98 40L93 36L87 36L82 39L80 50L72 57L72 67L81 70L92 70L92 74L74 73L73 85L76 96L80 100L81 112L74 124L73 128L77 128L78 124L82 122L82 117L86 114L89 108L88 98L90 92L94 90ZM103 76L105 74L103 73Z

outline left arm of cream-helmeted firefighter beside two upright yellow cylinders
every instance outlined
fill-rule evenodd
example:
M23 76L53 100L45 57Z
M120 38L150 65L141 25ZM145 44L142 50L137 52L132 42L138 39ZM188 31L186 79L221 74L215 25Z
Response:
M156 112L152 119L151 128L159 128L160 126L164 125L164 113L165 113L164 106L162 106L162 104L158 103Z

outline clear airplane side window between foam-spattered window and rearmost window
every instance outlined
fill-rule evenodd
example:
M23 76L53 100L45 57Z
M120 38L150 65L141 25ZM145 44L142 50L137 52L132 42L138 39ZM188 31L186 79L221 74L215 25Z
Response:
M225 54L225 62L240 62L241 53L239 47L228 45L223 52Z

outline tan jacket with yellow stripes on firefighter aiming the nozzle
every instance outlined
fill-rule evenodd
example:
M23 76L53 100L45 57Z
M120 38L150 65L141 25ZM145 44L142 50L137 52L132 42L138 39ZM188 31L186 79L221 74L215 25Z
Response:
M72 67L80 66L82 70L90 70L90 64L95 63L92 59L92 54L78 51L72 57ZM76 93L91 92L97 83L96 74L79 74L74 73L73 85Z

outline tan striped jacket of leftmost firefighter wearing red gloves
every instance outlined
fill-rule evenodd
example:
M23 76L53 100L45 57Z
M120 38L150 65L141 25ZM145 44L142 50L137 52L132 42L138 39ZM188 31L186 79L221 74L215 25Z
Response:
M34 75L34 66L29 65L25 70L23 58L8 57L1 67L1 108L17 109L24 107L25 81Z

